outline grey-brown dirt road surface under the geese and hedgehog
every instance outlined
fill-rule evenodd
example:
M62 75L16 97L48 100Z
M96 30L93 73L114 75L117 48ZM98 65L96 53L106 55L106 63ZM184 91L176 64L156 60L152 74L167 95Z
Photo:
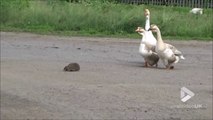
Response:
M212 42L166 41L174 70L142 67L139 42L1 32L1 119L212 119Z

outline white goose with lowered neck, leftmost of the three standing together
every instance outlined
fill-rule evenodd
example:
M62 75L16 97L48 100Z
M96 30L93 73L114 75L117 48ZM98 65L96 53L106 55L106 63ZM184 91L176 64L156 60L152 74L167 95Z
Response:
M139 53L144 57L144 60L145 60L144 66L148 67L148 65L150 66L156 65L157 67L159 57L157 53L155 52L155 46L146 44L146 42L144 42L146 40L145 32L147 31L145 31L142 27L138 27L135 31L138 32L140 35L142 35L142 40L139 47Z

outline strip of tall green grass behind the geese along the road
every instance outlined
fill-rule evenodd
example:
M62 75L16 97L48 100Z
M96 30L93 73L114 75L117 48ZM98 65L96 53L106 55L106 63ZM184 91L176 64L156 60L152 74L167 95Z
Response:
M163 38L213 40L213 12L189 14L190 8L125 5L109 2L67 3L59 1L1 1L1 31L75 36L138 38L136 27L144 26L143 10L151 11L151 23Z

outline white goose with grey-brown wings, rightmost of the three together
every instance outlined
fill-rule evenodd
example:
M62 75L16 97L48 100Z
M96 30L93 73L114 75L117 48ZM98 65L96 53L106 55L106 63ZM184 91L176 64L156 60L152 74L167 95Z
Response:
M185 59L182 53L174 46L172 46L171 49L171 45L163 42L160 29L156 25L151 25L149 30L157 33L156 52L167 69L173 69L174 66L172 66L172 64L178 63L180 58Z

